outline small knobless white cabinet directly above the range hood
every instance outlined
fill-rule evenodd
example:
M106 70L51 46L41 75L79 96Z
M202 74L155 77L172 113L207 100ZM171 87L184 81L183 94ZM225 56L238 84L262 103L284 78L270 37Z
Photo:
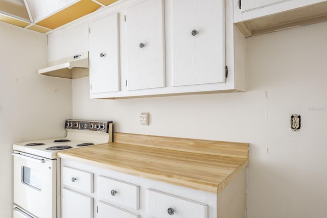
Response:
M88 51L87 22L49 35L49 62L82 54Z

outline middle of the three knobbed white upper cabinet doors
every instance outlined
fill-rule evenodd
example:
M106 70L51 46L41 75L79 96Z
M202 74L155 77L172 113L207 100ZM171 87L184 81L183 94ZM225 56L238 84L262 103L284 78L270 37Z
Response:
M127 89L166 86L164 2L126 9Z

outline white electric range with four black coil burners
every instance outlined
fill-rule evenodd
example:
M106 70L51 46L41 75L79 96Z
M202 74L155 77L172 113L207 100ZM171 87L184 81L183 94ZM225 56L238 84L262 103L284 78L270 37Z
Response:
M59 218L57 152L112 141L112 122L66 120L66 137L13 144L14 218Z

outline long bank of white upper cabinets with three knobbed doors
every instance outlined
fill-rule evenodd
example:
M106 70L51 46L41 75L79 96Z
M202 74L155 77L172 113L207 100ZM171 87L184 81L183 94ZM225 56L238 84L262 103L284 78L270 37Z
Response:
M89 51L91 99L245 91L235 13L238 0L118 1L52 33L49 54Z

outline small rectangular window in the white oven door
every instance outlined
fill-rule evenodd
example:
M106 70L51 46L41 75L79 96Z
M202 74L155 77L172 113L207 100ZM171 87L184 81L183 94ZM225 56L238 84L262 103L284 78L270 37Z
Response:
M22 183L36 188L37 190L41 190L42 175L40 171L27 166L22 166L21 174Z

